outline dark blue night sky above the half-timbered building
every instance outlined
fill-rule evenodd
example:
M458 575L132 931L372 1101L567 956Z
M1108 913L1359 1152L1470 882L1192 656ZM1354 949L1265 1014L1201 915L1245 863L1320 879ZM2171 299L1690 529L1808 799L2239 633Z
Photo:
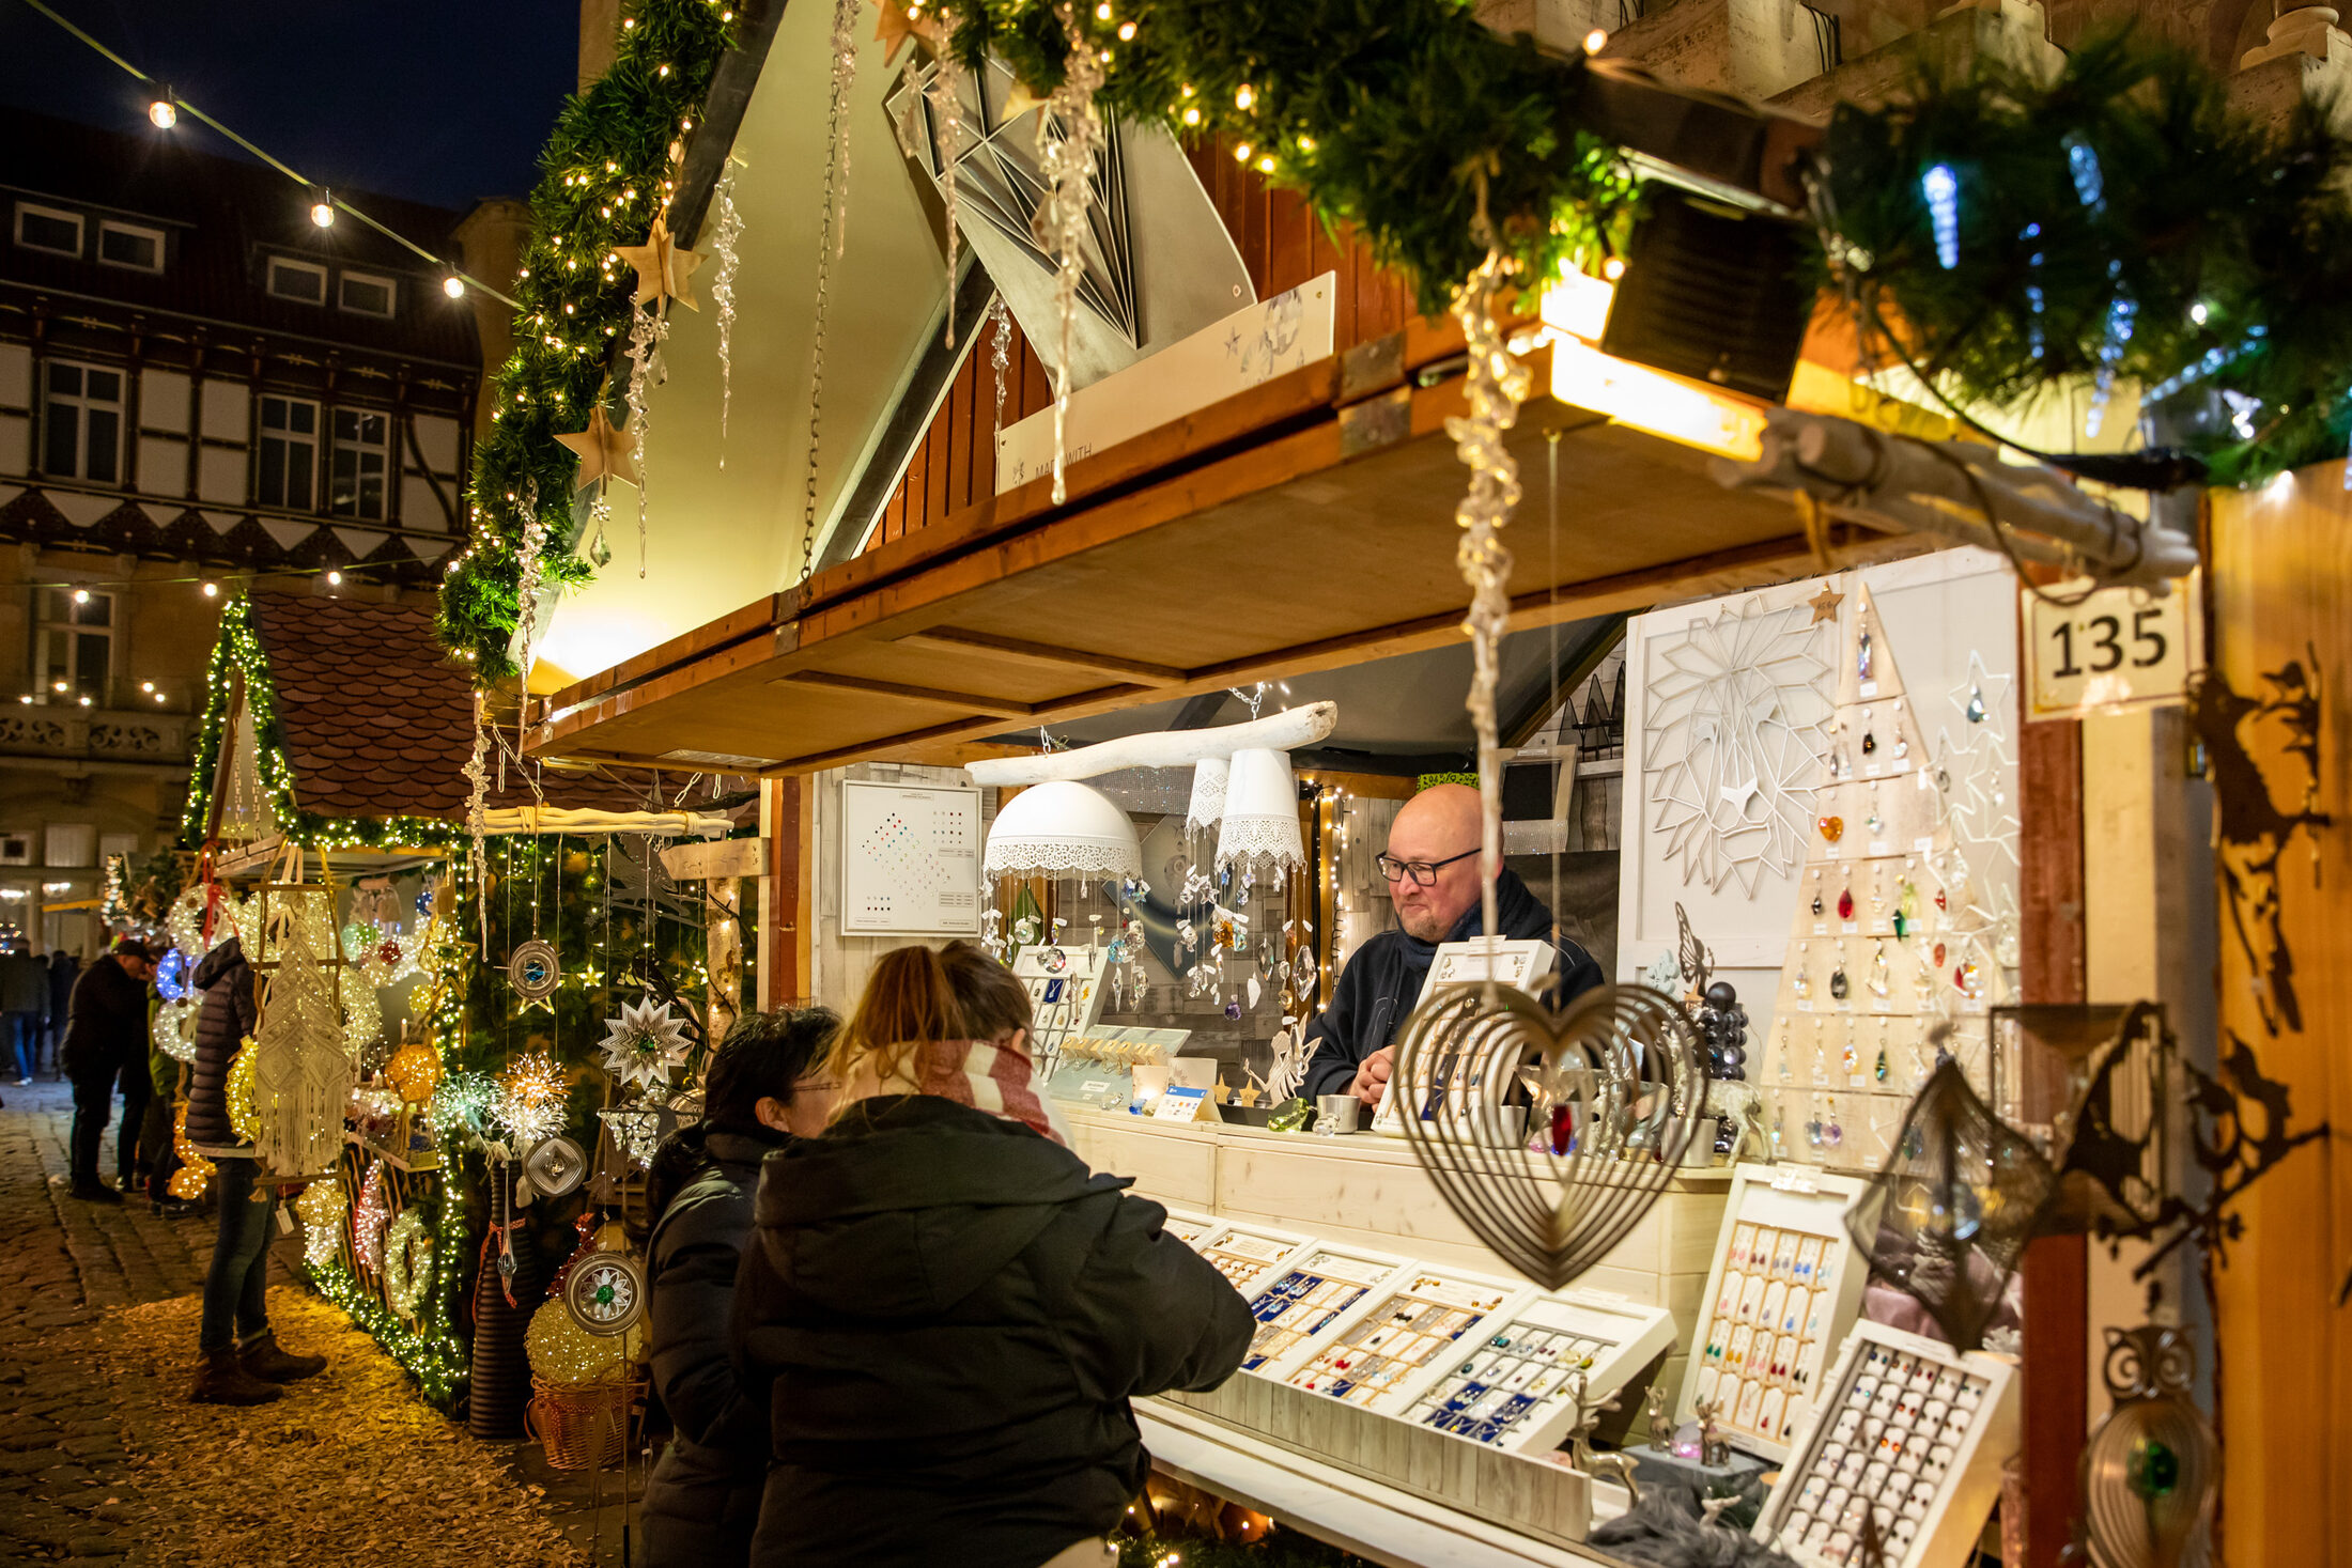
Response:
M49 5L306 176L456 209L529 195L579 68L579 0ZM146 129L153 92L19 0L0 0L0 61L9 103ZM240 155L188 118L174 134Z

